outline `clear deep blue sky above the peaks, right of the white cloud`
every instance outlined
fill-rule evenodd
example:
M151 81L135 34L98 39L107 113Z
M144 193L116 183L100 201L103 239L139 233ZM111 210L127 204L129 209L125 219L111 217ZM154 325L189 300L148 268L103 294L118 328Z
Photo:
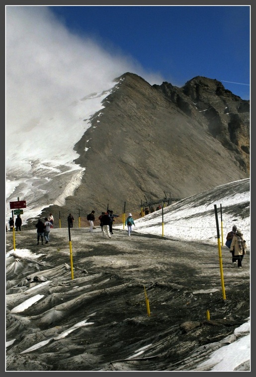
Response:
M92 39L113 57L137 61L163 81L182 86L205 76L250 99L249 5L49 8L70 32Z

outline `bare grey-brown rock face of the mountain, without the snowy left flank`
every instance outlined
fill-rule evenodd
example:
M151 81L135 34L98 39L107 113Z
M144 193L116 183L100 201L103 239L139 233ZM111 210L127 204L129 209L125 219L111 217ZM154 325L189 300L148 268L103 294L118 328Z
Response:
M151 86L132 73L115 81L75 146L85 175L62 212L100 214L109 204L120 213L124 202L127 211L139 210L166 194L184 198L249 178L249 101L199 76L182 88Z

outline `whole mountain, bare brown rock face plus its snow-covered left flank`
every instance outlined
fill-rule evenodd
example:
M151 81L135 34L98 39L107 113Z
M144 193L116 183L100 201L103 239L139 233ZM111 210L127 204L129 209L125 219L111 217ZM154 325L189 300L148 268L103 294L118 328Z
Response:
M34 221L37 210L64 217L81 210L84 217L108 205L122 213L124 202L135 212L141 203L249 178L249 101L200 76L181 88L150 85L129 72L113 82L75 101L76 112L67 119L64 112L59 121L57 115L40 121L54 130L55 157L33 157L22 145L24 168L8 168L15 189L6 200L27 200L27 219Z

